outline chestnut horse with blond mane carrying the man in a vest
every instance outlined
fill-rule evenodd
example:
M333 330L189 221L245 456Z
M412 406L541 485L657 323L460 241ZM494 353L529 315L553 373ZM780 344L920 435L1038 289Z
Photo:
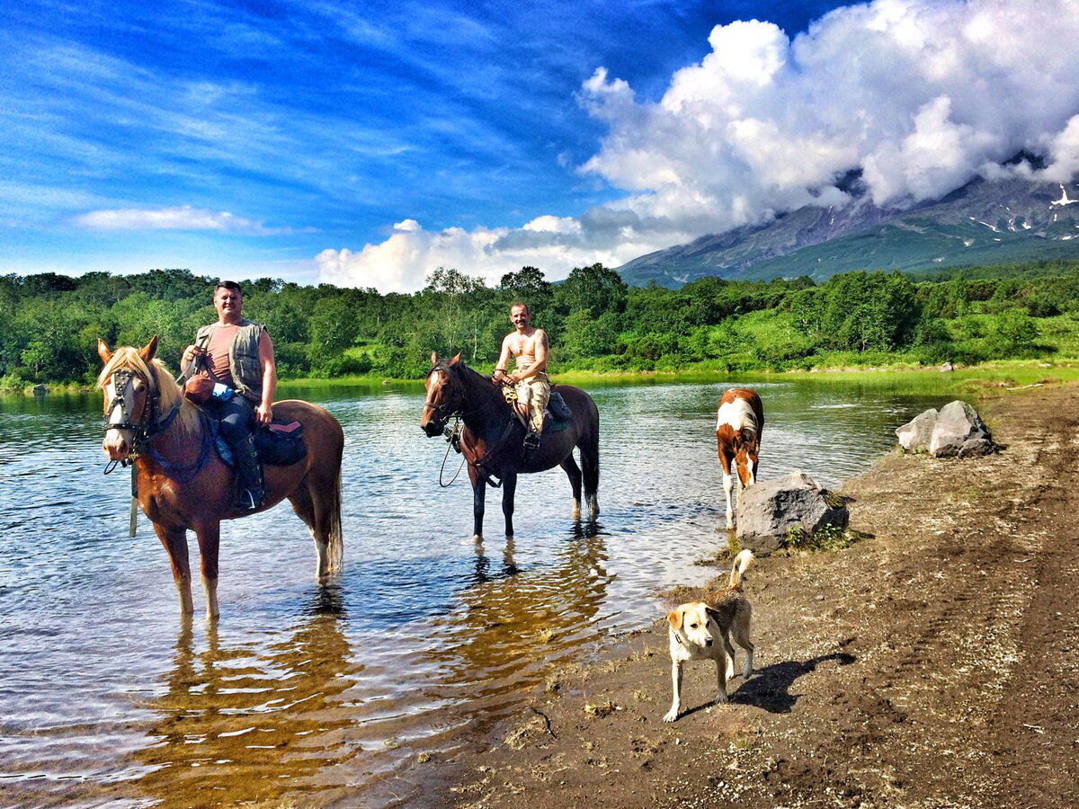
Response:
M232 505L232 469L214 448L211 423L200 408L183 398L165 365L154 359L158 338L144 348L109 351L97 341L105 362L97 379L105 393L105 440L101 449L112 461L134 460L138 502L153 522L168 551L180 612L190 615L191 567L187 530L199 538L206 614L218 617L217 557L221 520L237 513ZM288 497L308 527L318 553L319 577L341 565L341 454L344 433L337 419L322 408L295 399L275 402L275 416L303 425L308 454L291 466L267 466L265 504L260 511Z

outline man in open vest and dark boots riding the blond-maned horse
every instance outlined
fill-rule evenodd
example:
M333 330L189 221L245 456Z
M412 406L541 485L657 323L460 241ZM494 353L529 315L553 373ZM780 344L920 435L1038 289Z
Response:
M232 449L236 465L235 506L242 511L260 508L265 499L262 470L255 452L252 428L270 424L277 367L273 342L261 324L243 316L244 292L232 280L214 289L217 323L204 326L195 342L183 349L185 374L204 374L214 381L206 407L221 424L221 437ZM194 362L194 368L189 369Z

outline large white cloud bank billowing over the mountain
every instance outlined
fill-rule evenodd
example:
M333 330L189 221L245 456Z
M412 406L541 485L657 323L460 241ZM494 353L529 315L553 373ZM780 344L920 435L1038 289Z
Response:
M521 228L425 231L327 249L322 279L412 290L436 266L496 280L524 264L548 277L618 265L707 233L804 205L851 202L861 173L873 203L941 196L1022 149L1040 174L1079 172L1079 3L876 0L837 9L791 40L766 22L716 26L711 53L677 71L658 100L598 68L578 101L606 126L577 168L627 195L576 218Z

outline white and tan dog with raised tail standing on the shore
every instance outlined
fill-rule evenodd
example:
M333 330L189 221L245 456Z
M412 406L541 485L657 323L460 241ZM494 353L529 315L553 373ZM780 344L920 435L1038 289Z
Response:
M674 722L682 708L682 664L686 660L713 660L719 695L715 704L727 701L727 680L735 673L735 643L746 649L742 677L753 673L753 643L750 620L753 609L742 592L742 577L753 562L753 553L741 551L735 557L728 588L710 593L706 601L680 604L667 616L670 623L671 685L674 696L664 722Z

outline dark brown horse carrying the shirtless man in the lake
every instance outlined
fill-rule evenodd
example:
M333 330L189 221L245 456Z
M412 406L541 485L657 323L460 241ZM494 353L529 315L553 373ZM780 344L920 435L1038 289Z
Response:
M581 388L556 385L573 412L564 429L543 431L540 449L524 452L524 426L514 414L502 390L461 361L431 355L432 369L424 386L427 401L420 426L428 436L441 435L450 416L464 422L461 451L468 461L473 484L473 539L483 538L483 499L487 484L502 481L502 512L506 516L506 537L514 536L514 491L519 472L536 472L561 466L573 488L573 519L581 518L581 482L584 478L589 517L600 512L597 490L600 483L600 414L596 402ZM559 425L561 426L561 425ZM581 467L573 460L573 448L581 450Z

